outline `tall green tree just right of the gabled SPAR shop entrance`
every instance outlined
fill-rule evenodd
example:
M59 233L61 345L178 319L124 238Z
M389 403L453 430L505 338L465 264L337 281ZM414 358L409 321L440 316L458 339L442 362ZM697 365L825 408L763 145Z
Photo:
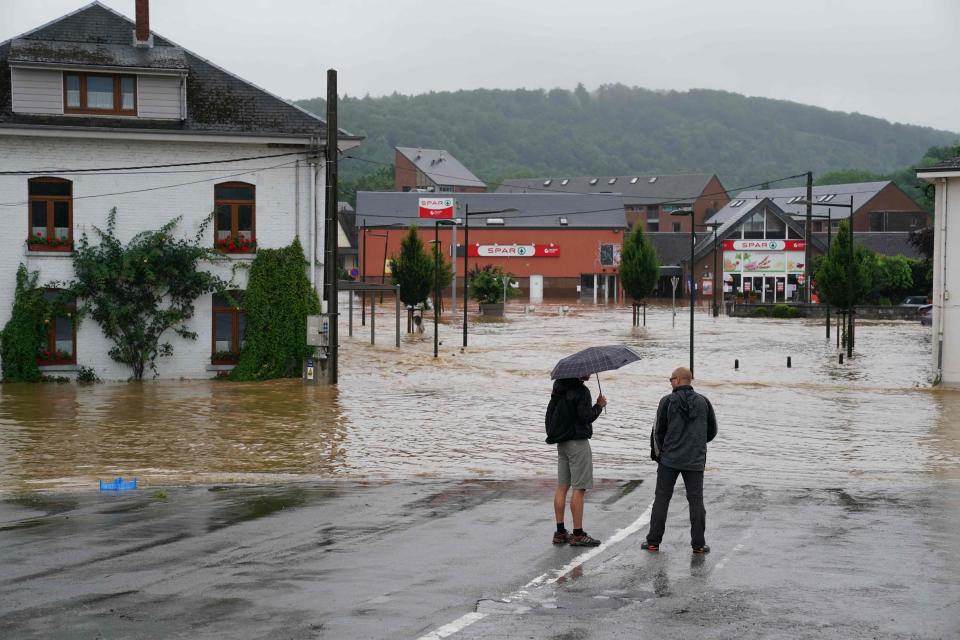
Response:
M820 297L834 307L852 309L865 302L873 289L873 252L856 245L851 278L850 224L840 223L830 251L814 264L814 277Z

